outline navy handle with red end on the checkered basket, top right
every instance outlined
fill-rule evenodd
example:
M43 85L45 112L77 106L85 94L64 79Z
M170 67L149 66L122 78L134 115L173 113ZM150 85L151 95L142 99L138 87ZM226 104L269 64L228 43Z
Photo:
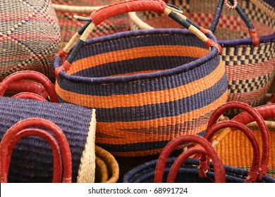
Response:
M216 30L216 26L218 25L219 18L221 16L221 11L224 6L224 1L225 0L219 0L218 6L216 7L216 12L214 15L214 19L212 20L212 24L209 27L209 30L214 32ZM236 9L238 14L240 15L240 18L243 19L243 22L245 22L245 25L248 27L250 37L252 37L252 44L253 46L257 46L259 44L259 34L255 27L252 25L250 19L248 18L247 14L243 11L243 9L236 3L236 0L229 0L231 1L231 4L234 4L232 6L232 9ZM226 1L226 6L227 6L227 1ZM227 6L229 7L229 6Z

